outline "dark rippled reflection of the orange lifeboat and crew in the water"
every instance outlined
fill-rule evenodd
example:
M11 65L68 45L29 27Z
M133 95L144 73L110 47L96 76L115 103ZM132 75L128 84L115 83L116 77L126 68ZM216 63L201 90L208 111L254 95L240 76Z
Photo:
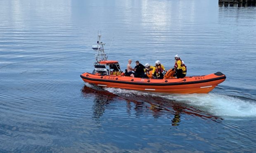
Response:
M127 93L116 95L97 86L93 87L94 88L84 86L81 91L85 97L95 97L92 109L96 121L99 121L106 109L115 109L115 107L120 105L120 103L117 104L117 102L122 101L126 102L126 113L128 116L135 115L136 118L141 118L152 114L154 118L170 118L171 125L173 126L179 125L183 114L210 119L217 123L221 123L223 120L223 118L188 106L186 103L175 102L174 100L168 100L164 97L154 95L129 95ZM125 112L123 112L123 114L125 114Z

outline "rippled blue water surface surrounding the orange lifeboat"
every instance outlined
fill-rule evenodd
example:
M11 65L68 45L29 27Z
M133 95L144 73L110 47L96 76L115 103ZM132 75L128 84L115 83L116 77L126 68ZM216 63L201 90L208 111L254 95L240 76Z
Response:
M255 14L218 0L1 0L0 152L256 152ZM98 31L123 70L179 54L187 75L227 79L188 95L84 83Z

